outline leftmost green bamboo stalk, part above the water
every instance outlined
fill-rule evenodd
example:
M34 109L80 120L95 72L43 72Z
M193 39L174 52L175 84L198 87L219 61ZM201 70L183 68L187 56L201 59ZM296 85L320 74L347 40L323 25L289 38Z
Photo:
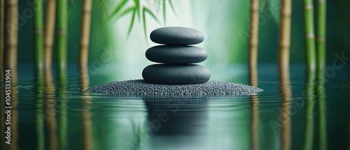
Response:
M36 75L43 75L43 3L34 0L34 51Z

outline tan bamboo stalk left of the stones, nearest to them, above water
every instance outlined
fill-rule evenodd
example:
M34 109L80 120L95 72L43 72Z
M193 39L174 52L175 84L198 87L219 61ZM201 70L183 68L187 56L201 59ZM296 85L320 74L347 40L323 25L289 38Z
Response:
M89 39L90 39L90 22L91 22L91 0L83 1L83 12L81 17L80 30L80 54L79 54L79 68L87 68L89 58Z

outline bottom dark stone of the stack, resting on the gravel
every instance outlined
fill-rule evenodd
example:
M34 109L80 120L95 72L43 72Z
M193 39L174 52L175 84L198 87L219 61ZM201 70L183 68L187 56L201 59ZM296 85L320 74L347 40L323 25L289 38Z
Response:
M153 64L142 71L146 82L156 84L200 84L210 76L207 67L195 64Z

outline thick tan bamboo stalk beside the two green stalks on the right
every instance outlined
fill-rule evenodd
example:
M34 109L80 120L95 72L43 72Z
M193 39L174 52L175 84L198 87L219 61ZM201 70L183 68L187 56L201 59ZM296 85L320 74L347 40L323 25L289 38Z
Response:
M290 56L290 22L292 15L292 1L282 0L279 27L279 69L281 73L288 72ZM280 73L280 74L281 74Z

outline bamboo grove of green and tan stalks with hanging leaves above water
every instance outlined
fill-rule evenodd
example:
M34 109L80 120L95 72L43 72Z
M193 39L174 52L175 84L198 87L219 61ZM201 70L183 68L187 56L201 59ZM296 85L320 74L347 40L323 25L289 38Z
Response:
M119 16L122 17L123 15L126 15L128 13L132 13L132 22L130 25L130 29L128 31L128 36L130 34L130 31L132 29L132 24L134 23L134 17L143 17L143 27L144 27L144 33L146 36L146 13L148 13L148 15L153 18L154 20L158 21L158 18L154 15L154 13L150 10L150 8L147 8L146 6L139 6L141 5L139 2L141 0L135 0L134 1L134 6L131 8L126 8L127 7L127 3L132 3L132 1L120 1L120 3L118 3L118 6L116 7L116 10L113 11L112 15L109 15L107 17L107 19L112 18L113 16ZM165 3L169 4L169 6L171 6L171 8L174 10L174 6L171 0L161 0L164 3L162 3L162 12L163 12L163 17L166 16L166 11L165 11ZM166 1L166 2L165 2ZM46 47L52 47L52 42L45 42L44 40L46 38L49 38L51 36L46 36L46 32L45 31L45 36L44 37L44 20L43 20L43 4L48 5L48 3L43 3L43 1L40 0L34 0L34 5L36 7L34 7L34 56L35 56L35 66L36 66L36 73L38 75L41 75L42 72L41 70L43 70L43 66L45 64L47 64L48 62L51 61L51 59L46 59L46 57L52 55L51 51L48 52L48 50L46 50ZM100 3L102 3L102 6L104 7L104 10L106 10L104 3L102 0L99 0ZM258 3L256 3L256 1L254 3L252 3L253 0L251 1L251 19L255 19L256 20L256 16L259 15L258 13ZM286 3L288 1L282 1L283 3ZM55 54L57 57L57 68L58 68L58 73L59 75L64 75L66 73L66 61L67 61L67 29L68 29L68 4L69 1L65 1L65 0L57 0L57 41L55 41L57 43L57 54ZM90 31L90 17L91 17L91 4L92 1L84 1L84 8L83 10L85 10L85 12L83 11L82 14L82 30L81 30L81 40L80 40L80 68L83 68L83 66L87 66L87 57L88 57L88 47L89 47L89 31ZM287 3L288 4L288 3ZM326 0L319 0L316 2L316 9L314 8L314 1L312 0L302 0L302 4L303 4L303 8L304 8L304 36L305 36L305 55L306 55L306 65L307 65L307 70L310 71L318 71L318 73L324 73L325 72L325 54L326 54L326 42L325 42L325 29L326 29ZM8 7L6 7L6 12L4 11L5 9L3 8L3 6L7 5ZM52 3L51 4L51 8L55 7L56 3ZM160 5L158 3L158 5ZM49 5L48 5L49 6ZM283 6L283 5L282 5ZM287 8L290 8L290 4L285 5ZM316 10L316 11L314 11ZM14 16L14 13L18 12L18 5L16 0L9 0L9 1L1 1L1 22L4 21L4 15L6 15L6 22L10 22L11 24L18 24L18 19L15 19L17 17ZM255 13L254 13L255 12ZM289 12L284 12L281 11L281 13L286 13L283 16L287 16ZM52 13L53 15L55 15L55 12ZM135 16L137 15L137 16ZM314 22L314 17L316 18L316 24ZM47 17L45 21L48 20ZM282 26L281 27L286 27L286 29L283 28L283 30L281 30L281 37L286 37L286 38L281 38L283 40L280 41L280 47L286 47L286 50L284 50L284 53L281 53L281 56L279 56L279 58L284 58L281 59L283 60L283 64L286 64L286 66L288 66L288 62L289 61L289 44L288 45L281 45L281 43L288 43L288 41L290 40L289 36L290 33L288 33L288 31L290 31L290 24L289 23L289 18L281 18L282 20L287 20L284 21L287 24L286 26ZM50 21L50 23L55 24L55 19L53 21ZM166 22L166 18L164 18L164 23ZM253 23L251 21L251 23ZM283 23L283 22L282 22ZM281 23L281 24L282 24ZM46 23L48 24L48 23ZM45 26L48 26L46 25ZM316 25L316 26L315 26ZM251 26L252 27L252 26ZM314 28L316 27L316 29ZM46 29L47 27L45 27ZM51 27L52 29L54 28L54 26ZM3 29L3 27L1 27L1 29ZM252 29L250 29L252 30ZM13 68L14 66L17 66L17 40L18 40L18 33L17 31L13 30L13 31L9 31L8 33L8 37L6 40L6 45L4 43L4 32L1 31L1 41L0 41L0 47L1 47L1 51L0 51L0 56L3 56L0 58L1 59L6 59L4 61L6 61L7 64L6 67L7 68ZM252 34L251 36L251 43L250 43L250 47L257 47L258 46L258 39L257 40L253 40L255 39L255 36L258 36L258 31L254 32L255 34ZM284 34L283 34L284 33ZM51 35L52 33L48 34ZM11 35L11 36L9 36ZM286 36L283 36L286 35ZM254 36L254 37L253 37ZM53 36L52 36L53 37ZM45 39L44 39L45 38ZM257 38L257 37L256 37ZM53 40L53 38L50 38ZM5 49L3 49L3 47L6 46L7 50L6 53L4 53L3 51ZM253 58L249 61L249 63L251 64L250 66L256 66L255 63L257 62L257 52L255 52L257 50L254 50L253 52L250 52L250 57ZM6 54L6 56L5 56ZM9 61L10 60L10 61ZM49 64L49 66L51 66L51 63ZM47 67L45 67L47 68Z

